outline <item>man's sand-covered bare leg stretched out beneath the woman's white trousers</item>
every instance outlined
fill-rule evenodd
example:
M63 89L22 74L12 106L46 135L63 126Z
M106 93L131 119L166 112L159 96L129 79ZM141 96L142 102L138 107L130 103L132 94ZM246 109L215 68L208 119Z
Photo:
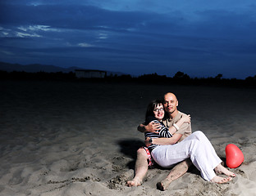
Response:
M178 179L179 177L183 176L186 171L188 171L189 167L192 165L190 158L185 159L185 161L176 164L175 167L171 169L171 172L167 176L165 180L158 182L157 187L160 190L167 189L167 186L171 184L173 180Z

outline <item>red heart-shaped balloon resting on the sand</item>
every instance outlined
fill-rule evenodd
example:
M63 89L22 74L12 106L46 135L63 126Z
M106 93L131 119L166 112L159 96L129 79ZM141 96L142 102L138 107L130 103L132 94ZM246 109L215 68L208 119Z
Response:
M239 167L245 160L242 151L233 144L226 145L226 166L230 168Z

